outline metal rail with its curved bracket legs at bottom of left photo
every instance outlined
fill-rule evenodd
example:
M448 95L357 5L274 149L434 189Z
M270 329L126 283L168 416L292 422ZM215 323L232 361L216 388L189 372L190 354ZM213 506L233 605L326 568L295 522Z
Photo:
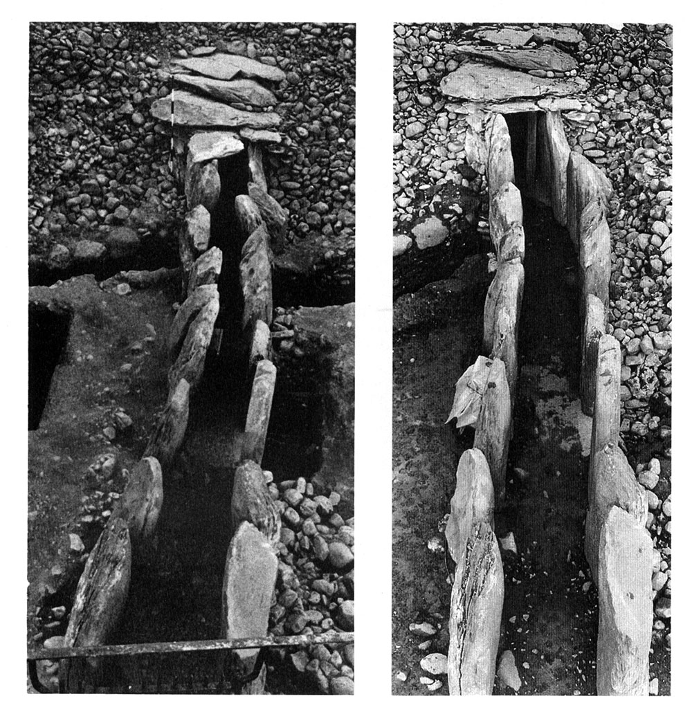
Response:
M239 638L236 640L193 640L191 642L156 642L136 645L98 645L95 647L60 647L54 649L31 649L26 653L31 686L40 694L49 694L39 680L36 663L39 660L69 660L104 658L134 655L170 655L176 653L222 652L227 650L249 650L259 648L254 670L236 685L244 685L256 679L264 665L266 648L306 647L309 645L344 645L352 643L352 632L331 632L321 635L281 635L277 637ZM61 688L61 693L64 691Z

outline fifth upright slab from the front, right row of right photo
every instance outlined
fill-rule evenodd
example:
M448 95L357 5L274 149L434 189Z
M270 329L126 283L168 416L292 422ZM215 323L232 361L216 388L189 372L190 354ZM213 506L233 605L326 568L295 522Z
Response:
M579 221L579 272L581 274L581 313L588 295L595 295L606 305L610 299L611 231L608 208L603 196L589 201Z

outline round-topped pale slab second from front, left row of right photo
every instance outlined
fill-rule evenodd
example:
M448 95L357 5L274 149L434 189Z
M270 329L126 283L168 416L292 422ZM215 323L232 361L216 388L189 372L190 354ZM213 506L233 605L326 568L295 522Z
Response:
M468 538L479 523L494 528L494 511L495 491L486 457L480 449L467 449L456 468L456 490L444 532L455 563L463 558Z

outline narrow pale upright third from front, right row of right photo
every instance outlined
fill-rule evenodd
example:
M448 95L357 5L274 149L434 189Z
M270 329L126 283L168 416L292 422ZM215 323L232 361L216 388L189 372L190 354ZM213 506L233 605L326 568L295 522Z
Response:
M620 343L612 335L598 340L596 390L593 399L591 453L620 439Z

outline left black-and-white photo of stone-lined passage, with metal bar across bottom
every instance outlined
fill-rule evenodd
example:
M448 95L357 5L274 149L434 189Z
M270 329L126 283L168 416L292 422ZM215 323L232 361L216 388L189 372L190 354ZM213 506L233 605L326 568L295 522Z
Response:
M27 691L353 694L356 25L28 29Z

